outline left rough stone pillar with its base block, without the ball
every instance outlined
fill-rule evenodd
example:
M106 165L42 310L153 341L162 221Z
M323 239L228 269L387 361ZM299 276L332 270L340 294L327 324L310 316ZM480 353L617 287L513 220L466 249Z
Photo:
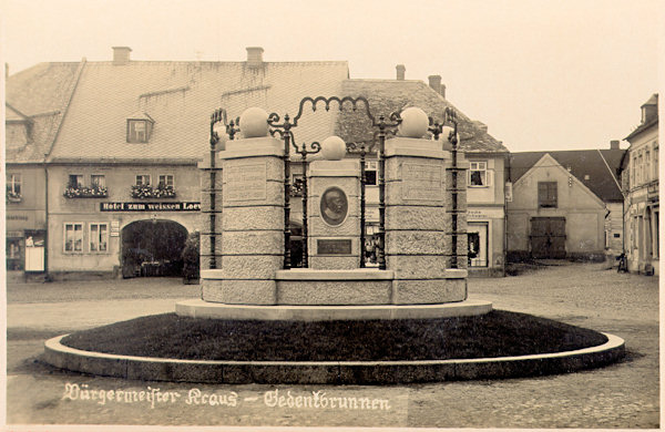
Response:
M274 305L284 263L284 144L228 141L221 152L224 241L217 270L202 271L205 301Z

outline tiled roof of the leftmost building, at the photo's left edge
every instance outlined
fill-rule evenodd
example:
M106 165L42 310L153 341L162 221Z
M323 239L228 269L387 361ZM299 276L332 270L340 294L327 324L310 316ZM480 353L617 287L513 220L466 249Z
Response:
M81 63L40 63L7 79L7 121L30 120L27 145L7 143L8 163L42 162L66 111Z

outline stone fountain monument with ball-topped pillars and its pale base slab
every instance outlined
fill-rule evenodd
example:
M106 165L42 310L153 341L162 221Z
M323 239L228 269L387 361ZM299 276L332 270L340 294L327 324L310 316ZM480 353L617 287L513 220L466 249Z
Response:
M452 166L451 152L442 144L447 136L424 137L429 120L422 110L410 107L401 114L397 136L385 141L379 155L385 268L359 266L360 164L344 158L346 145L337 136L323 141L323 157L308 163L306 173L308 267L285 268L288 140L285 144L269 134L267 113L245 111L239 117L243 137L227 141L218 153L222 222L213 236L221 251L218 268L201 271L202 298L178 302L176 312L223 319L360 320L490 311L490 302L467 299L467 269L448 265L451 255L457 260L457 250L466 250L466 236L457 235L466 227L458 210L466 207L460 205L463 196L458 197L466 176L457 176L454 188L450 182L468 162L460 157ZM209 209L204 197L204 213L206 204Z

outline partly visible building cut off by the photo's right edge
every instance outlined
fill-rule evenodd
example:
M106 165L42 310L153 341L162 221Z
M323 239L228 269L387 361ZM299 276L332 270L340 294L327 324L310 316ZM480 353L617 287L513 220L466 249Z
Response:
M631 144L624 160L626 239L628 270L659 274L658 198L658 95L642 105L641 124L625 140Z

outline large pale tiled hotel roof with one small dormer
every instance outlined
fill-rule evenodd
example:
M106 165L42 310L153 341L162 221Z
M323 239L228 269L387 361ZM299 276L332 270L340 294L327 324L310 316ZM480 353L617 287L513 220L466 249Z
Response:
M335 95L348 78L346 62L147 62L86 63L53 147L53 161L201 160L209 151L209 119L218 107L231 119L250 106L291 116L300 99ZM147 143L126 142L126 120L154 120ZM295 130L296 138L320 140L335 114Z

